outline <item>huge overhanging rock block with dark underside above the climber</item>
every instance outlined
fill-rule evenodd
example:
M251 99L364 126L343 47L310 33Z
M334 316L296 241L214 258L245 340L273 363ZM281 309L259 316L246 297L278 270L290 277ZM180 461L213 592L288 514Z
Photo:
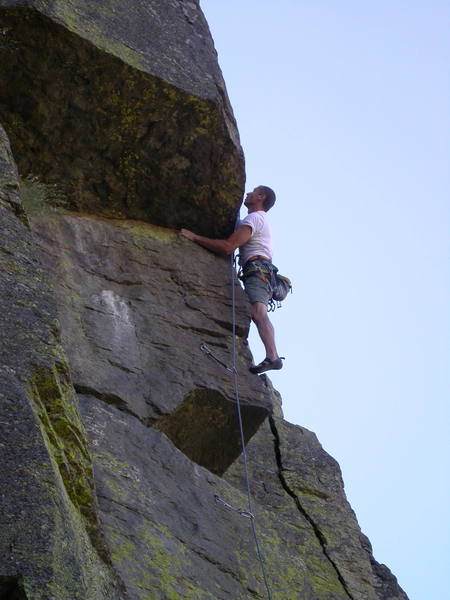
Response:
M74 208L223 236L244 184L232 109L197 3L159 4L0 1L4 125L22 176Z

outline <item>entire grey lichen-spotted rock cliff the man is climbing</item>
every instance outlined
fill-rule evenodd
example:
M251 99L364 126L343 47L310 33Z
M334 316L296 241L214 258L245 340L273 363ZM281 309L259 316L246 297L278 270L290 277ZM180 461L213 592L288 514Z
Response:
M267 598L216 501L247 505L230 374L201 350L230 362L230 265L175 230L226 234L243 191L198 2L0 0L0 22L0 598ZM272 597L405 600L337 463L248 373L236 297Z

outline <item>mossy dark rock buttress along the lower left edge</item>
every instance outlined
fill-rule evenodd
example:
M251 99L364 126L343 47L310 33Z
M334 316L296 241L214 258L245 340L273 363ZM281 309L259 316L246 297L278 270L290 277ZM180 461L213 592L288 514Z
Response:
M0 165L0 591L119 598L56 303L27 223L15 214L22 215L17 171L3 129Z

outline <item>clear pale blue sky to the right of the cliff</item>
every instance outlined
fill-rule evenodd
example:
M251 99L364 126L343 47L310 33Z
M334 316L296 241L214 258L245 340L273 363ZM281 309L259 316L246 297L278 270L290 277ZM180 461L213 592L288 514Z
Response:
M247 163L273 187L287 420L340 463L379 562L448 598L444 2L201 0ZM255 358L263 358L251 336Z

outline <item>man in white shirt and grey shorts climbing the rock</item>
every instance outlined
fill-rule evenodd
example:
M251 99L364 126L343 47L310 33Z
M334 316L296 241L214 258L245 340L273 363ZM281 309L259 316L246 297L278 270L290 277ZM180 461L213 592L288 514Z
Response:
M217 253L232 254L239 248L245 292L251 304L251 318L266 349L266 358L250 367L252 373L260 374L283 367L275 346L275 332L267 314L272 297L272 234L267 211L275 204L275 193L269 187L259 185L248 192L244 204L247 216L238 228L224 240L211 239L182 229L181 235Z

